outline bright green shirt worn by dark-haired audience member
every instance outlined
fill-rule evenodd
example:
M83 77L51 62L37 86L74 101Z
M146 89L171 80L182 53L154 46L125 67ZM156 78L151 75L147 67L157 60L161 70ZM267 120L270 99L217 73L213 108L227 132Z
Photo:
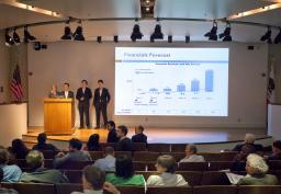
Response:
M116 176L114 173L109 173L105 176L105 180L116 186L121 185L136 185L136 186L145 186L145 179L142 174L133 175L128 179L123 179Z

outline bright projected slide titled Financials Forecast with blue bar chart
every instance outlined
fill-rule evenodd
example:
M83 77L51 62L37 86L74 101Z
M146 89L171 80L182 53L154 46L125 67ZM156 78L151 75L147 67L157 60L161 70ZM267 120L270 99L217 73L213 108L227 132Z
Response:
M115 115L228 115L228 48L115 48Z

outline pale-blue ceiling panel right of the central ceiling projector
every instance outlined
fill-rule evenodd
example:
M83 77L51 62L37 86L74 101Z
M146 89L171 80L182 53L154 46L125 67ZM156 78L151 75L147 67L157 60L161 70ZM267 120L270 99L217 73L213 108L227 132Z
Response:
M223 19L270 3L262 0L156 0L155 18Z

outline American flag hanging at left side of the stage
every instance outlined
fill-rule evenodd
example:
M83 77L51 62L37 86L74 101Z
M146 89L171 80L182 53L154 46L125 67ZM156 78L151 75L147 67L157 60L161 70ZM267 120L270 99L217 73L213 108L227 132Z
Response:
M13 79L11 82L11 91L18 101L21 101L23 98L22 91L22 81L21 81L21 71L19 65L16 65L13 71Z

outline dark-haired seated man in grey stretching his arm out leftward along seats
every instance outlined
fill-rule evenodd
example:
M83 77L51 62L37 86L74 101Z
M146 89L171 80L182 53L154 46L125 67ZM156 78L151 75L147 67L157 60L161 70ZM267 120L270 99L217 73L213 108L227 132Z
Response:
M79 139L72 138L69 140L69 152L59 152L54 159L54 167L61 168L74 161L91 161L91 156L88 151L81 151L82 142Z

